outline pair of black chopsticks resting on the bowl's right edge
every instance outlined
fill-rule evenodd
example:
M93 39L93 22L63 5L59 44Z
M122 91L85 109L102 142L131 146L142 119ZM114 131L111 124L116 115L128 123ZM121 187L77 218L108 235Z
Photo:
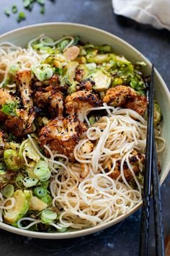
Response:
M164 256L164 235L161 216L161 192L158 177L158 161L156 141L153 128L154 106L154 67L152 66L151 83L147 88L148 96L148 128L146 137L146 165L143 185L143 207L140 223L140 256L148 255L149 217L151 205L151 184L153 191L153 214L156 241L156 256Z

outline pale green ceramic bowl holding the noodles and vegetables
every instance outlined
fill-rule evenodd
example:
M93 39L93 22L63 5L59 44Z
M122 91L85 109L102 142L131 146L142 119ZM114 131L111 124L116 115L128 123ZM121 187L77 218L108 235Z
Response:
M112 46L117 54L123 55L130 61L145 61L147 64L146 74L151 74L151 62L146 59L143 54L140 54L133 46L126 43L125 40L117 38L117 36L99 30L95 27L89 27L86 25L73 24L73 23L43 23L38 25L31 25L28 27L22 27L17 30L12 30L9 33L5 33L0 36L0 43L3 41L10 41L17 46L27 46L27 43L37 37L37 35L45 34L51 38L61 38L63 35L79 35L81 40L84 42L91 42L96 45L108 44ZM161 111L164 116L162 122L162 137L166 140L166 150L164 155L161 157L161 184L169 173L170 169L170 93L166 87L164 80L161 75L156 71L155 76L156 85L156 99L161 106ZM89 229L82 229L79 231L68 231L65 233L43 233L35 231L27 231L22 229L14 228L6 223L0 223L0 228L6 231L10 231L23 236L31 236L42 239L66 239L73 238L76 236L84 236L91 234L102 229L106 229L109 226L113 226L116 223L124 220L131 214L135 213L140 208L142 202L130 210L128 213L116 218L115 220L103 223L99 226L95 226Z

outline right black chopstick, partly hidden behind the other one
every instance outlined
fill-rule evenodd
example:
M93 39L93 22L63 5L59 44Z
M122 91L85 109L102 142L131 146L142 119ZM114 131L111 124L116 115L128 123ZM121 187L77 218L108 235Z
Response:
M164 256L164 234L161 214L161 192L158 177L158 159L156 154L156 141L154 140L153 129L153 167L152 167L152 184L153 184L153 215L155 226L156 256Z

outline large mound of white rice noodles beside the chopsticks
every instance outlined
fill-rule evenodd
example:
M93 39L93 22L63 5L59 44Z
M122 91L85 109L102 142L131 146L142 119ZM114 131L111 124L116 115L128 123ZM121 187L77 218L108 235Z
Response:
M96 226L117 218L141 200L140 184L128 157L133 150L145 153L146 120L130 109L107 109L109 116L99 119L88 129L87 137L76 145L74 156L79 163L68 163L68 170L59 171L50 184L53 206L63 208L61 223L75 229ZM90 153L83 153L82 147L89 141L94 143L94 149ZM112 170L105 172L104 165L109 159L112 159ZM119 179L114 180L109 175L114 172L117 159L121 159L121 174ZM138 190L132 189L125 179L124 161ZM85 179L81 179L81 163L89 169Z

